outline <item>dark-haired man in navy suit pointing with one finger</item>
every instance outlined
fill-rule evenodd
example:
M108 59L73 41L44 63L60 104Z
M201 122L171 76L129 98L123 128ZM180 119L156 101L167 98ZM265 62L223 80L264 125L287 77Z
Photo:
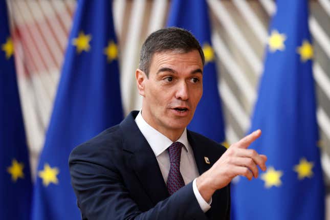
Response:
M202 97L203 66L186 30L146 39L136 71L142 110L70 155L84 219L229 219L228 184L236 175L257 178L267 158L247 149L260 130L226 151L186 129Z

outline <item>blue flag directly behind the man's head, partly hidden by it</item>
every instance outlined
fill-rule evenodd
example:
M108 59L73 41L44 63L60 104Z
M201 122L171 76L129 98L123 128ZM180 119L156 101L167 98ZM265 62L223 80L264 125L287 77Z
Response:
M205 55L203 97L188 128L222 143L225 141L224 119L217 88L215 54L211 44L210 20L205 0L173 0L167 26L190 31L199 40Z

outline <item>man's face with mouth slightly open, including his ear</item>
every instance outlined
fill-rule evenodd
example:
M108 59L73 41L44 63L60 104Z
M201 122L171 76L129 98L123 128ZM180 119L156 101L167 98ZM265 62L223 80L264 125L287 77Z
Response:
M149 77L141 83L143 90L139 87L144 96L142 116L147 123L163 134L169 129L183 130L203 94L202 71L202 59L197 50L154 54Z

